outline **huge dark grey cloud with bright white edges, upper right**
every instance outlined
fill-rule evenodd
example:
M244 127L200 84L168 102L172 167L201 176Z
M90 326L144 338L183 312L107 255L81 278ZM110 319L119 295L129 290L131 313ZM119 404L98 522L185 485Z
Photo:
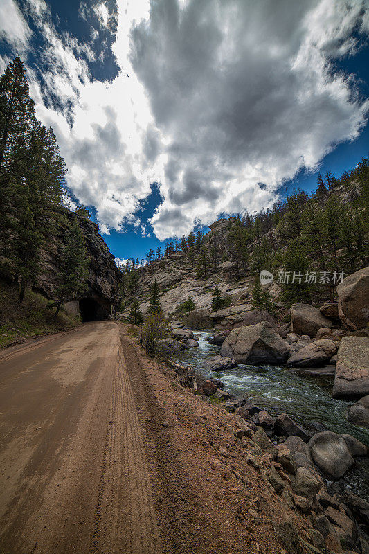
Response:
M170 208L204 223L260 208L278 182L357 135L368 105L329 63L352 52L367 21L357 1L152 2L131 57L168 137L161 236L174 231Z

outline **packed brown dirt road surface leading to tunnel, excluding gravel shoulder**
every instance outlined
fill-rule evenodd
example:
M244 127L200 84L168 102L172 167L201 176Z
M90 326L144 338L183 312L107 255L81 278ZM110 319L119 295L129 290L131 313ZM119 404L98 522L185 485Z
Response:
M3 355L0 406L1 553L159 551L116 323Z

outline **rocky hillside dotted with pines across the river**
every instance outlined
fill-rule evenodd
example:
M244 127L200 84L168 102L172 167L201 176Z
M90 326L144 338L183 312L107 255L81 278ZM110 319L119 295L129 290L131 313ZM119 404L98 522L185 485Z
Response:
M188 296L209 312L217 283L232 304L250 303L263 269L273 273L269 290L282 311L294 302L332 301L342 275L368 265L368 200L368 159L341 177L319 175L310 196L294 190L272 208L217 220L204 235L148 252L146 265L130 260L122 268L122 307L138 296L145 312L155 279L165 312ZM270 298L262 307L270 310Z

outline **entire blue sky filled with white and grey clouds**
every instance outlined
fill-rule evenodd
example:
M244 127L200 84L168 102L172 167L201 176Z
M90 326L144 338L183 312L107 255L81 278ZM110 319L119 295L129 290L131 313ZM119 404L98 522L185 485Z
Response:
M119 258L368 155L369 0L0 0L73 200Z

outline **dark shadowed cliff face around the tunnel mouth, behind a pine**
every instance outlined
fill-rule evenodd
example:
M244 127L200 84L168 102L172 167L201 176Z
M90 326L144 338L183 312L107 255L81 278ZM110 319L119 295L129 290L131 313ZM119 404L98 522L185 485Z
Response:
M37 280L35 289L47 298L55 298L57 288L57 274L66 244L66 231L69 225L77 220L80 225L84 242L90 258L88 289L83 296L67 298L69 307L73 311L80 311L83 321L97 321L107 319L114 314L118 302L118 283L120 271L114 262L114 256L107 244L98 233L98 225L80 217L69 210L62 210L60 223L53 231L49 240L46 240L42 250L42 272Z

